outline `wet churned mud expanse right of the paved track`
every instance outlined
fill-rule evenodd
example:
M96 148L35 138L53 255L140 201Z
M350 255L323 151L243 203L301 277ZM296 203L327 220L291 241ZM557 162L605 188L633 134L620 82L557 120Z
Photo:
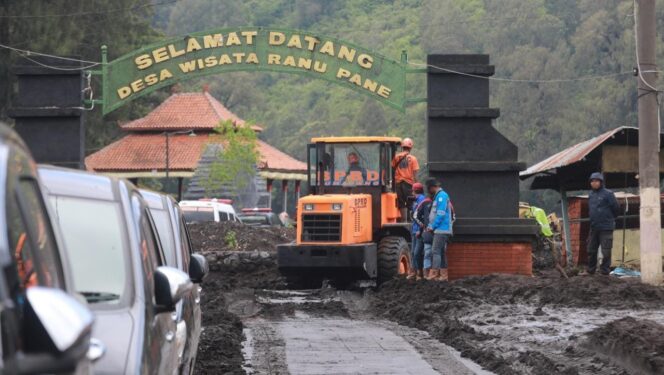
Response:
M372 309L498 374L662 373L662 339L651 341L658 349L647 345L648 335L637 342L641 330L664 337L657 323L639 328L617 321L589 338L584 333L628 314L661 311L662 298L663 288L635 280L490 275L450 283L392 280L376 291ZM591 315L598 324L586 319ZM625 359L614 361L614 351Z

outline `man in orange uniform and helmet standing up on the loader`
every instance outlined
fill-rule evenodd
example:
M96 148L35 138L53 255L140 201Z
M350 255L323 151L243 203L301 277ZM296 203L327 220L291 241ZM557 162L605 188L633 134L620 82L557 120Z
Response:
M413 140L404 138L401 141L402 151L392 159L394 168L394 181L397 183L397 200L401 212L401 220L406 221L408 215L408 197L413 194L413 184L417 182L417 172L420 164L417 158L410 154L413 149Z

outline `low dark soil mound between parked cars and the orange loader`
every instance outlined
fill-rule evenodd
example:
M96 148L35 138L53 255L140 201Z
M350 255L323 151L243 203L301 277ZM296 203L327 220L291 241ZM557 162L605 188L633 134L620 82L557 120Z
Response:
M194 251L275 250L275 246L295 239L295 229L252 227L235 222L188 224Z

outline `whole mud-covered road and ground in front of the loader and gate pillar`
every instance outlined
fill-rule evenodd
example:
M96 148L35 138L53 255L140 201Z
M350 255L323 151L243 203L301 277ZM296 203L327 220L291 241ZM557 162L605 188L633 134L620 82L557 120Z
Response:
M663 288L555 271L305 288L255 250L206 254L196 373L664 373Z

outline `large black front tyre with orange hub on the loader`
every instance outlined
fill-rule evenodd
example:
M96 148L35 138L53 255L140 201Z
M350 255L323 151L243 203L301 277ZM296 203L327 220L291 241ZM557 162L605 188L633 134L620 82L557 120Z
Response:
M403 237L387 236L378 242L378 284L408 273L410 246Z

